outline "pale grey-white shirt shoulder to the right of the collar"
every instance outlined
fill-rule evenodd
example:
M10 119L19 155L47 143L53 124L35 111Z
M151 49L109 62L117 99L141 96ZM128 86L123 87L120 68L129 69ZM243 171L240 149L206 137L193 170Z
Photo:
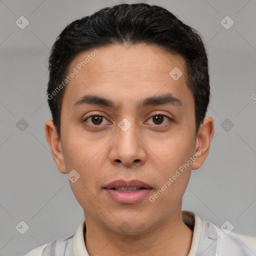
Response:
M221 229L211 222L202 220L202 232L198 248L202 252L214 251L219 256L250 256L256 254L255 244L256 237L230 231L224 227Z

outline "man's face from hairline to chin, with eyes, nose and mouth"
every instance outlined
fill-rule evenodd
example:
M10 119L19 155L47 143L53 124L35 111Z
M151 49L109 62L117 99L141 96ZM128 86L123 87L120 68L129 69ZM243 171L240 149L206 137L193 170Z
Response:
M69 65L68 74L74 68L78 72L62 100L56 163L62 173L74 169L80 175L69 183L85 219L115 232L127 222L130 233L141 233L181 207L190 170L198 160L191 163L198 147L192 92L179 55L144 44L97 50L80 53ZM79 65L87 55L89 61ZM173 68L182 72L178 79L180 73L169 74ZM189 166L181 172L185 163ZM112 181L134 179L148 187L134 192L110 189L111 185L107 189ZM126 185L142 187L136 182Z

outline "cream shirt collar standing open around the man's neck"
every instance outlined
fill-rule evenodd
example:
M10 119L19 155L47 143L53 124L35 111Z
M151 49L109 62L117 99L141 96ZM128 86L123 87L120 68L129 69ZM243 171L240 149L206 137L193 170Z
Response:
M192 211L181 211L183 222L193 230L192 243L187 256L195 256L198 248L200 235L202 231L201 219ZM89 256L83 238L83 232L86 230L85 219L79 224L73 240L73 254L74 256Z

